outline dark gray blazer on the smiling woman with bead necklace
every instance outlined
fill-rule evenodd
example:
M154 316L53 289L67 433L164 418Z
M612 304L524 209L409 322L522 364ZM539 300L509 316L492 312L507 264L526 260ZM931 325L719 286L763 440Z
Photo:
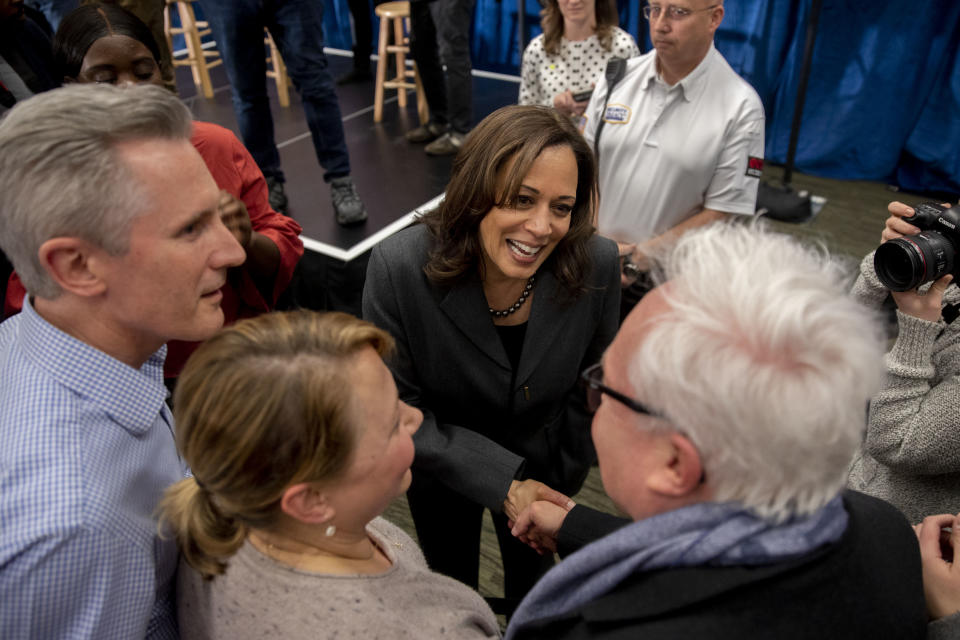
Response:
M429 246L419 224L384 240L363 291L364 318L397 341L390 366L400 397L424 413L415 472L496 512L515 477L575 493L596 455L580 372L617 331L615 243L590 240L588 290L572 302L549 259L540 269L515 381L479 274L438 287L423 273Z

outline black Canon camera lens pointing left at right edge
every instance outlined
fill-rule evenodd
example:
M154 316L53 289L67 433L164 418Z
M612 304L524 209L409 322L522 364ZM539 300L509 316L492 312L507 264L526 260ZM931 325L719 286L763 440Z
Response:
M954 253L946 236L924 231L884 242L873 256L873 267L883 286L909 291L952 271Z

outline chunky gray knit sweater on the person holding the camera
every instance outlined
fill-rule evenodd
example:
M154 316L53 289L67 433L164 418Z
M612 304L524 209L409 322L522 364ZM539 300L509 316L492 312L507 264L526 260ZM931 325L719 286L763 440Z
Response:
M888 292L860 264L855 297L879 306ZM951 284L944 303L960 302ZM887 378L870 402L863 447L849 484L900 509L911 522L960 511L960 319L928 322L897 312L899 332L887 354Z

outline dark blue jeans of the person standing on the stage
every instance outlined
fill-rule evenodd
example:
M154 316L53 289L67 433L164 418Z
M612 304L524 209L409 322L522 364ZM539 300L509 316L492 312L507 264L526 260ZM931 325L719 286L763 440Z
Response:
M320 0L200 0L230 79L240 135L264 175L283 181L267 99L263 28L300 92L317 160L329 182L350 174L340 103L323 53Z

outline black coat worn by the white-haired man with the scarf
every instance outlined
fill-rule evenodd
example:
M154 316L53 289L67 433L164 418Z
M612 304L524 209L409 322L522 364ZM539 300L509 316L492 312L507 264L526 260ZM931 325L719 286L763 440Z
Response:
M882 500L847 491L843 502L850 520L837 544L776 565L637 573L576 610L534 621L516 638L924 638L913 530ZM584 540L588 514L580 514Z

